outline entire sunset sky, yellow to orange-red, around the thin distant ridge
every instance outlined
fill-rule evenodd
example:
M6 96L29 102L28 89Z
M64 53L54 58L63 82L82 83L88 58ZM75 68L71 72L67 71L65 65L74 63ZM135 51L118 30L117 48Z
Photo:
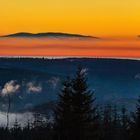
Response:
M64 32L77 38L0 38L2 56L140 57L138 0L0 0L0 35Z

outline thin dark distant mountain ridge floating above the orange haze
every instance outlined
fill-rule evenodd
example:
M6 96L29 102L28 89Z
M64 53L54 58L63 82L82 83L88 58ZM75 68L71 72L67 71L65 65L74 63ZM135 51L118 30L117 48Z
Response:
M45 38L45 37L64 37L64 38L95 38L95 36L81 35L81 34L70 34L62 32L46 32L46 33L28 33L19 32L15 34L8 34L1 37L32 37L32 38Z

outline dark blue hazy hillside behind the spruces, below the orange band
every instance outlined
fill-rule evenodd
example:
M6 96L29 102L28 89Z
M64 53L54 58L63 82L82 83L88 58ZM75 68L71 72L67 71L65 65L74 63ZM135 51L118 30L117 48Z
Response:
M54 107L61 82L67 76L73 76L79 65L88 71L88 84L95 91L98 105L117 104L126 106L128 110L135 109L140 94L139 60L0 58L0 90L9 81L16 81L20 90L11 96L11 112L29 110L43 113L46 104L46 111ZM0 111L7 109L6 99L0 98Z

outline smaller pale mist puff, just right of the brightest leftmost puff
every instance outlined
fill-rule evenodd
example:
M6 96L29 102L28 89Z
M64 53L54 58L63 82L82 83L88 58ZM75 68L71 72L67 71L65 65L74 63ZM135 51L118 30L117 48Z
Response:
M27 93L40 93L41 91L41 84L36 84L35 82L27 83Z

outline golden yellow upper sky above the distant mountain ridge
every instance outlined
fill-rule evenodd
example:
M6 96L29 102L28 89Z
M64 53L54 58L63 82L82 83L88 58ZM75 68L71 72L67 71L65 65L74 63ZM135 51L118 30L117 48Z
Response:
M0 0L0 34L140 34L139 0Z

